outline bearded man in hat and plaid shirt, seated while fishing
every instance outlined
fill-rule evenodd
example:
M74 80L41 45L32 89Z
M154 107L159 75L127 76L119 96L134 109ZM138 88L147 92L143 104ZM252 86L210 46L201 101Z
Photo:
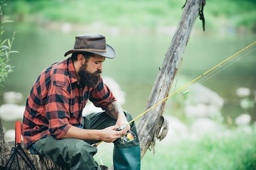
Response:
M72 56L43 70L31 89L21 124L25 147L71 170L100 170L92 145L113 142L114 169L139 170L139 139L134 122L128 124L132 116L101 77L102 63L115 58L115 50L103 35L83 34L75 37L74 48L64 56L68 54ZM103 111L83 116L88 100ZM130 127L137 139L120 141Z

